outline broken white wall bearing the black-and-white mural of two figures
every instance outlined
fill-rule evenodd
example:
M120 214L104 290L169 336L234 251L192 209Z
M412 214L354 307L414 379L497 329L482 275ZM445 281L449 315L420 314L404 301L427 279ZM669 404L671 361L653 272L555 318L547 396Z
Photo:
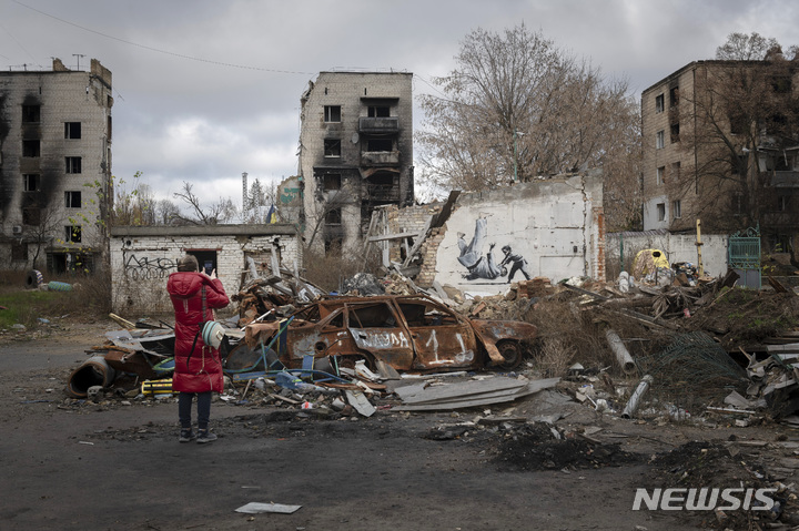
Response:
M573 176L463 194L446 222L436 280L495 294L537 276L604 277L601 177Z

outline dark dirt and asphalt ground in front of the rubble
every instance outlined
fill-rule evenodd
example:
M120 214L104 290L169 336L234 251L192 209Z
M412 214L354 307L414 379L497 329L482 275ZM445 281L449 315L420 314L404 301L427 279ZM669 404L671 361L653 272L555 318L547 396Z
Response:
M172 398L65 396L113 323L0 337L0 524L14 530L792 529L799 432L725 416L621 419L565 382L458 412L370 417L215 400L180 445ZM550 421L552 425L546 423ZM556 436L557 433L557 436ZM634 511L637 488L782 483L772 511ZM243 514L247 502L302 506Z

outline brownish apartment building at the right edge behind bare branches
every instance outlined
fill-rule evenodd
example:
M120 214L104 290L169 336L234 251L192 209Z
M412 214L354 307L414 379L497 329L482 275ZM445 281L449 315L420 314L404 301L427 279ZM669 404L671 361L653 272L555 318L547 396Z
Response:
M799 232L799 69L781 54L691 62L641 93L644 229ZM745 93L742 88L748 91ZM793 242L793 247L799 242Z

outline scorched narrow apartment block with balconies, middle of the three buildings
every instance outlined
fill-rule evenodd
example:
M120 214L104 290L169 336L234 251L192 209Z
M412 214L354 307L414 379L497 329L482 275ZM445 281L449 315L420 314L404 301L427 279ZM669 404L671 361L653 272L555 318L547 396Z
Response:
M305 243L354 249L382 205L414 201L413 74L321 72L302 95Z

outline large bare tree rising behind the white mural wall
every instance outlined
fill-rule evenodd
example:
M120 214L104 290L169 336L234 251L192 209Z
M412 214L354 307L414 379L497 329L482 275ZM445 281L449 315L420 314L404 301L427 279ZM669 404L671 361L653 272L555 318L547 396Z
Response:
M524 24L504 34L476 30L457 68L423 95L417 134L432 185L484 190L539 175L629 159L638 129L627 82L555 47ZM615 167L625 167L616 163Z

